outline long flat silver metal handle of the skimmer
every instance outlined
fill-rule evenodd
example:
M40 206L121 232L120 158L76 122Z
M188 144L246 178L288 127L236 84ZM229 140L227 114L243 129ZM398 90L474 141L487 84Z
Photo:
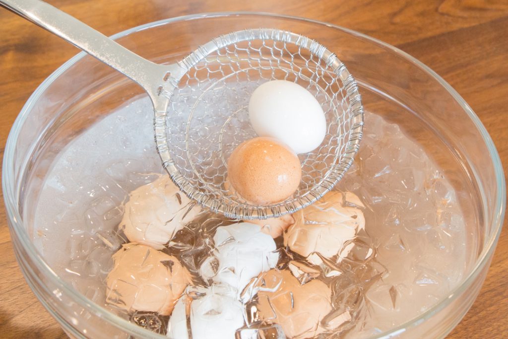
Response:
M163 82L164 71L167 67L142 58L78 19L43 1L0 0L0 6L47 29L125 74L140 84L152 99L156 96L158 83Z

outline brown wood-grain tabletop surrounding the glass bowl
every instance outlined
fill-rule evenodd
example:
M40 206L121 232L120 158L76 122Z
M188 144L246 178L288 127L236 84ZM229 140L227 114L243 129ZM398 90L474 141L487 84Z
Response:
M214 11L274 12L358 30L415 56L457 89L480 116L496 144L504 168L508 168L507 0L49 2L106 35L155 20ZM0 10L2 153L23 103L44 78L77 52L76 48L35 25ZM0 337L65 337L23 279L14 258L3 207L0 208L0 222ZM508 230L504 228L480 296L450 338L508 336L507 236Z

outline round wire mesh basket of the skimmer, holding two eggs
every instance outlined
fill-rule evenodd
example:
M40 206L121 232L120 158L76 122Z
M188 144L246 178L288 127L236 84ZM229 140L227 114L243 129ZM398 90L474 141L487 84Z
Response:
M215 212L237 219L292 212L333 188L351 165L363 124L357 85L344 65L314 41L279 30L248 30L212 41L184 59L187 69L175 82L166 116L175 183ZM270 80L306 88L327 120L323 143L299 155L300 187L271 206L256 206L228 190L227 162L241 142L256 137L248 118L252 92Z

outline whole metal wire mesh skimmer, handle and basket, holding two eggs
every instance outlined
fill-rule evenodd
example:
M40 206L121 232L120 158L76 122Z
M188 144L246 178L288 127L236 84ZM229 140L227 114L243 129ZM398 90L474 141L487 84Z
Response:
M157 151L189 198L233 219L294 212L331 190L351 166L362 137L358 86L327 48L280 29L245 29L200 46L172 65L157 65L79 20L39 0L0 0L2 6L66 39L139 83L152 100ZM293 81L320 102L327 120L323 143L299 155L297 192L273 205L253 205L226 187L227 161L255 137L248 101L263 82Z

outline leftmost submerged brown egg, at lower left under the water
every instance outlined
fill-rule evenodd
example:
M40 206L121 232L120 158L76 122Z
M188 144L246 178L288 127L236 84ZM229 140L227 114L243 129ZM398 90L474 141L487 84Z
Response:
M177 258L143 244L124 244L113 255L113 261L106 278L106 300L126 311L170 315L191 281Z

